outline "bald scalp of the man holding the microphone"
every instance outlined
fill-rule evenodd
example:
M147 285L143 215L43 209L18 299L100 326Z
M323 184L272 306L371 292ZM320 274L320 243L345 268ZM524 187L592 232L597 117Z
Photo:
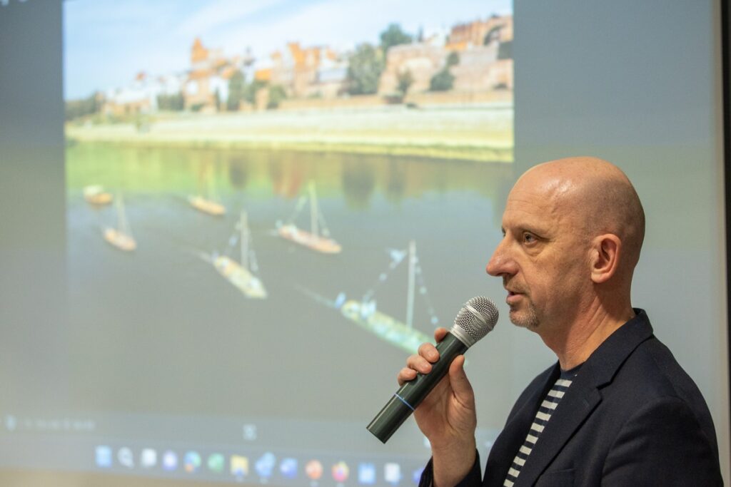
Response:
M553 199L554 210L570 215L587 239L607 233L619 237L621 270L631 277L645 237L645 212L621 169L594 157L564 158L532 167L519 185L533 186Z

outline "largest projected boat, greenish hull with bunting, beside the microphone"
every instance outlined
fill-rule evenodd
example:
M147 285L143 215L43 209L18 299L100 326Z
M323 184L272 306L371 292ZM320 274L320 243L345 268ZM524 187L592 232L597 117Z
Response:
M375 334L381 340L391 345L395 345L409 353L418 353L419 346L424 342L431 342L431 337L427 334L415 329L414 321L414 290L417 285L417 279L421 282L420 294L428 296L423 277L421 277L421 269L416 256L415 242L409 243L408 251L392 250L390 270L395 269L406 256L409 256L409 285L406 292L406 321L399 321L393 316L387 315L376 309L376 301L373 299L374 289L368 291L366 296L360 301L355 299L346 300L344 294L336 299L335 307L338 307L341 313L351 321L360 325L366 331ZM379 277L379 283L386 280L387 274ZM437 325L439 320L436 318L431 304L428 304L427 310L431 315L431 324Z

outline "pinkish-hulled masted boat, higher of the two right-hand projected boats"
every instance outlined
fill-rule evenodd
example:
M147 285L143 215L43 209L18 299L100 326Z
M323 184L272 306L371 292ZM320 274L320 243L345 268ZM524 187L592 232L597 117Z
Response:
M309 231L300 229L293 223L307 202L310 204ZM321 225L322 231L320 231ZM308 185L308 196L300 197L292 218L289 218L287 223L277 223L277 234L284 239L303 245L319 253L340 253L343 250L338 242L330 238L330 231L325 225L325 218L323 218L322 212L320 212L317 204L317 193L314 183Z

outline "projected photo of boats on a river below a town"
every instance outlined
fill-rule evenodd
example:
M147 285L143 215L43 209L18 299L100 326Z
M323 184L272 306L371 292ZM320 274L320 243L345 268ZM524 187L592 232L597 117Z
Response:
M507 0L65 1L77 406L363 435L395 380L344 388L484 292L512 32Z

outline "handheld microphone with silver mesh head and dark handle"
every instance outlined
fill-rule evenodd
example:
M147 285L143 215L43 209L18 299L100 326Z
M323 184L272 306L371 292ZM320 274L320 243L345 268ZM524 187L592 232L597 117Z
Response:
M490 299L476 296L466 302L457 313L452 329L436 345L439 360L431 364L431 372L426 375L417 374L414 380L404 383L368 424L368 431L383 443L387 442L439 380L447 374L452 360L465 353L477 340L492 331L497 321L498 310Z

